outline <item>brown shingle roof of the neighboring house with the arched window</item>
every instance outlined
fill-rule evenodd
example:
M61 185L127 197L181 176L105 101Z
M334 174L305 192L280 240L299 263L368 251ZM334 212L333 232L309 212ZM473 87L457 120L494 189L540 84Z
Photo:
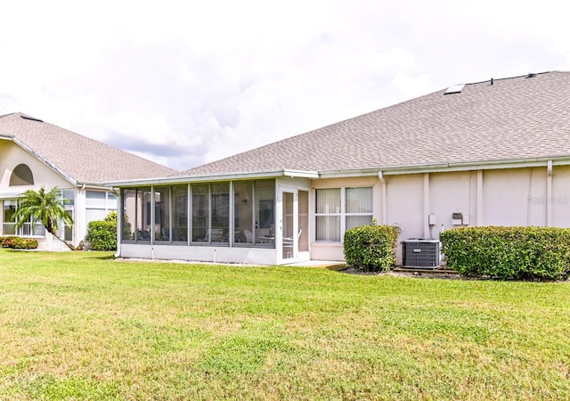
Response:
M20 112L0 116L0 135L23 143L77 183L101 184L176 173L171 168Z

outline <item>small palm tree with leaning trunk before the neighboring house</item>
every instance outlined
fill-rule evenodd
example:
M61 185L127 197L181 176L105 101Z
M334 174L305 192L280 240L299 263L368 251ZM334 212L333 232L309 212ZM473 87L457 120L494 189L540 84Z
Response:
M65 224L72 225L73 218L65 210L65 205L69 204L68 199L60 198L60 191L57 187L46 192L44 187L39 191L28 190L20 201L20 205L15 213L16 229L28 221L32 222L32 229L37 221L41 221L48 233L52 233L55 238L65 243L69 250L75 250L72 244L61 240L57 234L58 221L62 219Z

